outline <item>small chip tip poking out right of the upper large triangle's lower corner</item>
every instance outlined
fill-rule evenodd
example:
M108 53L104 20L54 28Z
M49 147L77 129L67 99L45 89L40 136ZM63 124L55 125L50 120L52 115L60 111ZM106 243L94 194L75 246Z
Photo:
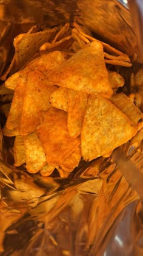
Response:
M115 71L108 70L108 77L112 88L123 87L125 79Z

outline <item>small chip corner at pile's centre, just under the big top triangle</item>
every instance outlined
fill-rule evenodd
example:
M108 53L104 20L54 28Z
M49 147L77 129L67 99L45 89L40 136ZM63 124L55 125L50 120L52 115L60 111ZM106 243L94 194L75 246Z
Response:
M50 95L50 104L52 107L59 108L61 110L67 111L68 102L68 89L59 87L57 90L53 91Z

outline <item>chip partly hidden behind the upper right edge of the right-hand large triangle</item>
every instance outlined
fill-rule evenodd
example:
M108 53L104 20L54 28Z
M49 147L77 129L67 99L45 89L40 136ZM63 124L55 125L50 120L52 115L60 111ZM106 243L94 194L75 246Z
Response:
M143 115L138 107L124 93L118 93L111 97L110 101L122 110L125 115L136 125L143 121Z

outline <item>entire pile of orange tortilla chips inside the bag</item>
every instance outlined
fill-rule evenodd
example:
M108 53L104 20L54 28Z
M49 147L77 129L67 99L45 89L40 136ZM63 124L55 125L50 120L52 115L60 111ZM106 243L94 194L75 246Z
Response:
M130 67L130 58L85 27L31 29L14 46L1 79L10 76L0 87L12 104L0 111L7 117L4 135L15 137L15 166L26 164L28 172L43 176L56 168L68 177L81 158L110 155L143 126L131 97L116 93L124 78L113 65Z

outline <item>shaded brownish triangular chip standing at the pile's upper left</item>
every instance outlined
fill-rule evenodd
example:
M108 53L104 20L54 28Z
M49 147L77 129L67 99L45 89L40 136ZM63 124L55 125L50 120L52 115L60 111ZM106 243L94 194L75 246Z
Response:
M20 34L14 39L15 62L17 69L21 68L36 52L42 44L52 41L55 37L57 27L53 29L36 32L34 34Z

